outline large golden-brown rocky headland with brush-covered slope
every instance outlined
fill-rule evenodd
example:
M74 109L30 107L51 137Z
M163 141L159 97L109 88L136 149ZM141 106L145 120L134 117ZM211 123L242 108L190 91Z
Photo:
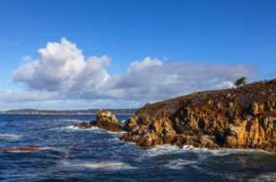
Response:
M276 152L276 79L146 104L123 141Z

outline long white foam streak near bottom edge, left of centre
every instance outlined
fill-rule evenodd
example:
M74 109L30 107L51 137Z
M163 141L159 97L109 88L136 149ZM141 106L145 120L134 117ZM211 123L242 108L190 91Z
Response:
M71 167L83 167L92 170L134 170L133 166L125 164L120 161L101 161L101 162L83 162L83 163L69 163L64 162L65 165Z

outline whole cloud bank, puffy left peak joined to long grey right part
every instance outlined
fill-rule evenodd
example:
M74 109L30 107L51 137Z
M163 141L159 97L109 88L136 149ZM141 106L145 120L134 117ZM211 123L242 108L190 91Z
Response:
M25 91L17 93L14 99L85 100L97 105L107 104L102 107L129 106L120 105L123 103L141 106L194 91L232 87L239 77L251 77L254 73L254 69L246 65L168 62L145 57L131 62L125 73L110 75L109 62L106 55L85 57L82 50L65 37L60 43L49 42L39 49L37 60L26 62L13 71L13 79L25 86Z

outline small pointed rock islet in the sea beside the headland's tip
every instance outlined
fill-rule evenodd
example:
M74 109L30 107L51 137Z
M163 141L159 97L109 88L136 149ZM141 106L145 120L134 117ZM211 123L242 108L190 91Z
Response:
M99 110L96 120L91 122L82 122L74 125L75 128L92 128L98 127L108 131L121 131L121 123L116 119L116 116L107 110Z

